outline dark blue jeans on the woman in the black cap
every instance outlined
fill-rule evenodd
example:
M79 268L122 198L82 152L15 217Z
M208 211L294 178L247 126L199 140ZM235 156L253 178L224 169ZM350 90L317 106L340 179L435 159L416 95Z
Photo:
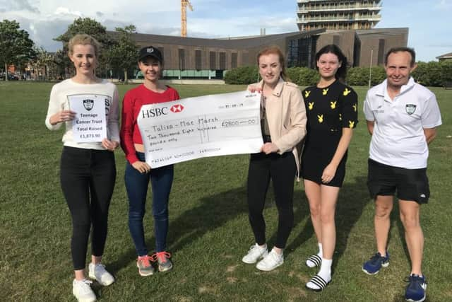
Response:
M136 154L140 161L145 161L144 153ZM153 192L155 250L162 252L167 248L168 200L173 176L173 165L151 169L149 173L140 173L129 161L126 164L124 180L129 197L129 230L138 256L148 255L144 240L143 217L146 211L149 180Z

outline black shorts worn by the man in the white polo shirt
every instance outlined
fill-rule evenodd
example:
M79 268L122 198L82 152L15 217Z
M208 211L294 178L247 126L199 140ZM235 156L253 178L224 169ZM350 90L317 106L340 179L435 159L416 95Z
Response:
M393 196L427 204L430 197L427 168L405 169L384 165L369 158L367 187L372 198L377 195Z

